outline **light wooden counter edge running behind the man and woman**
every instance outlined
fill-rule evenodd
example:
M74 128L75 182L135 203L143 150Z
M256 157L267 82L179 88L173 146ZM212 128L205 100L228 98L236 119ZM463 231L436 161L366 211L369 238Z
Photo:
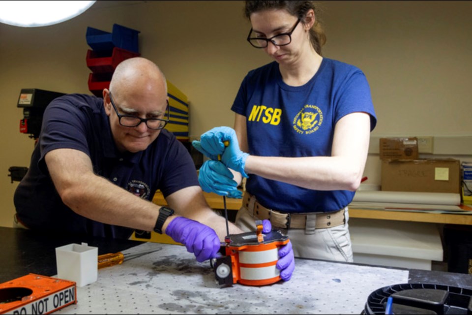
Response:
M204 192L205 199L212 209L223 209L223 197L215 193ZM167 205L164 196L157 191L152 202L158 205ZM226 206L228 210L239 210L241 208L242 199L226 198ZM412 222L428 222L428 223L444 223L444 224L464 224L472 225L472 215L461 214L438 214L438 213L421 213L407 211L390 211L390 210L370 210L370 209L349 209L350 218L377 219L377 220L393 220L393 221L412 221Z

